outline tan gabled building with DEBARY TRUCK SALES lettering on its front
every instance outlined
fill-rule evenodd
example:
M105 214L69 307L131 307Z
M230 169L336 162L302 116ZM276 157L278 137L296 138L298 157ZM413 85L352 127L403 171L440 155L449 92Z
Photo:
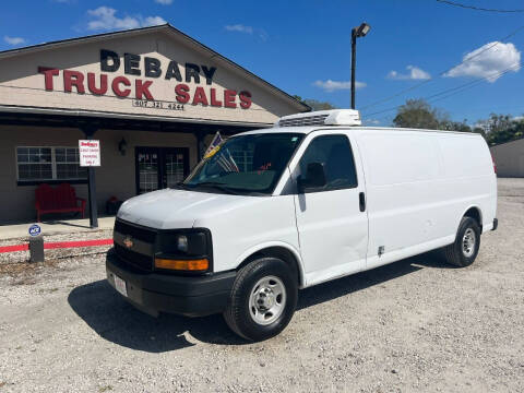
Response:
M218 131L309 108L170 25L0 52L0 224L35 217L40 183L87 198L79 140L100 141L96 203L169 187Z

